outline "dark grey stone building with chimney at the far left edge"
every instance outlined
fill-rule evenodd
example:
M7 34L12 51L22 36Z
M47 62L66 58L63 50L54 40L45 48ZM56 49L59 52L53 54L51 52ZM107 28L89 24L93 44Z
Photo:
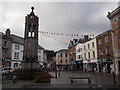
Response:
M12 54L12 38L10 29L7 29L5 34L2 34L2 67L10 67Z

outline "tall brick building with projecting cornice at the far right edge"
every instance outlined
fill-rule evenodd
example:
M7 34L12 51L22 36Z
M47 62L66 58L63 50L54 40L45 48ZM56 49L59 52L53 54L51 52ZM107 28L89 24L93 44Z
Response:
M112 12L108 12L107 17L113 31L114 72L118 75L120 74L120 5Z

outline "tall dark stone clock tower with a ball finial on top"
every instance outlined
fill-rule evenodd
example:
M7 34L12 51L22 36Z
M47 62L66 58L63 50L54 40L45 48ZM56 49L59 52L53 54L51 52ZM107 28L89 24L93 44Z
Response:
M25 33L24 33L24 52L22 69L36 69L38 67L38 23L39 18L32 11L25 17Z

